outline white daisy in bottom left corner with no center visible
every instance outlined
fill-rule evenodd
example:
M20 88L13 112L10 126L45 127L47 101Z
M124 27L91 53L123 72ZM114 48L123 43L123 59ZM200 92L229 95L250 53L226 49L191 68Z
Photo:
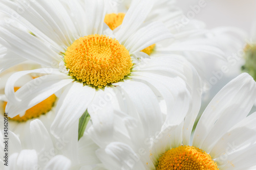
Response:
M77 125L71 130L77 130ZM93 169L98 166L100 161L95 155L97 145L88 137L83 136L77 142L77 133L69 130L65 138L55 139L51 137L45 126L39 119L35 119L30 123L27 133L31 133L31 148L24 149L22 142L18 136L9 131L9 160L8 166L3 157L1 157L1 169L9 167L9 169ZM1 136L1 155L3 155L3 147L5 145L3 134ZM73 140L75 139L75 140ZM84 142L86 144L81 145ZM4 143L4 144L2 144ZM69 149L70 148L70 149ZM100 164L99 164L100 165Z

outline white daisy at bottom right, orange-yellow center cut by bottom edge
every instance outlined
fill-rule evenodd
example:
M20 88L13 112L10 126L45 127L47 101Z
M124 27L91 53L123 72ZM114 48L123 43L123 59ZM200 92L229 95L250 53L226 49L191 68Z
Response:
M187 123L195 121L186 122L187 95L175 102L165 119L148 116L138 121L113 113L113 124L118 124L114 132L98 124L89 133L100 145L97 156L108 169L251 169L256 165L256 112L247 114L255 96L255 81L241 74L212 99L193 134L186 133ZM156 113L148 115L152 114Z

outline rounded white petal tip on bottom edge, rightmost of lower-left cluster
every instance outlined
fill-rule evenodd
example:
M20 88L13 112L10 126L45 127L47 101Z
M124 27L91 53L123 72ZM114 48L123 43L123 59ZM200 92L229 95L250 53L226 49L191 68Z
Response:
M71 161L63 155L57 155L47 163L44 170L68 170L70 168Z

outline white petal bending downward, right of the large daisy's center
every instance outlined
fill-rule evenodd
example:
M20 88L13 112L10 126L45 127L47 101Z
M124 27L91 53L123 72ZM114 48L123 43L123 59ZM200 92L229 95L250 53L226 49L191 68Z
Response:
M133 80L148 82L147 84L154 90L154 93L157 96L162 96L167 108L166 123L168 125L177 125L183 122L191 96L182 79L168 78L149 72L134 72L133 75L131 76Z

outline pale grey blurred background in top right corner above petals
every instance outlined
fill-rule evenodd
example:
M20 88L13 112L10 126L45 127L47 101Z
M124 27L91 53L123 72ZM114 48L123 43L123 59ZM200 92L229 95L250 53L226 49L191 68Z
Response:
M177 4L186 14L200 2L206 5L195 15L195 19L204 21L208 29L232 26L250 32L253 19L256 21L255 0L179 0Z

